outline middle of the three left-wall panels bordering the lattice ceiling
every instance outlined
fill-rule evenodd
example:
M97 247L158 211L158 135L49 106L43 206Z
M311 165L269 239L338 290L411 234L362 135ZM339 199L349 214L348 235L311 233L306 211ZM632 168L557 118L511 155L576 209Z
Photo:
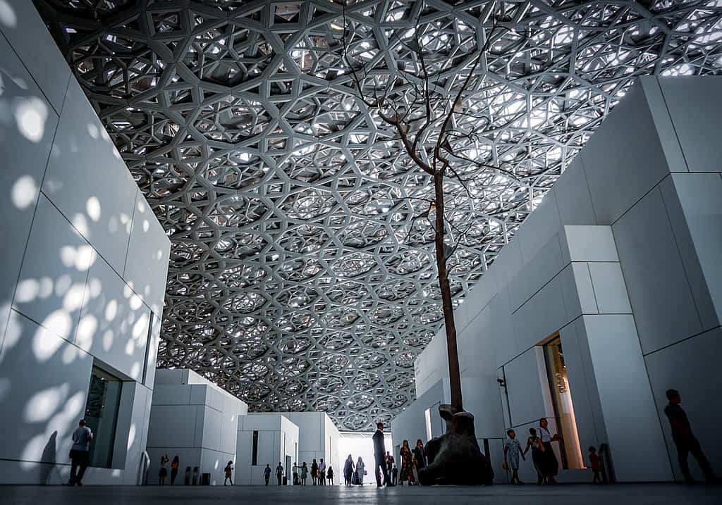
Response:
M75 79L68 87L43 191L122 273L138 187Z

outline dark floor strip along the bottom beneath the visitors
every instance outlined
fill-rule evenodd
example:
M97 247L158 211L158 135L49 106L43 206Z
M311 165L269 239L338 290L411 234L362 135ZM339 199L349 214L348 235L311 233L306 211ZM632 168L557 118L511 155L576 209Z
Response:
M0 486L0 504L50 505L181 505L195 504L533 504L533 505L627 505L627 504L722 504L722 486L679 484L622 484L591 486L567 484L554 487L493 486L491 488L422 488L375 486L325 488L308 486Z

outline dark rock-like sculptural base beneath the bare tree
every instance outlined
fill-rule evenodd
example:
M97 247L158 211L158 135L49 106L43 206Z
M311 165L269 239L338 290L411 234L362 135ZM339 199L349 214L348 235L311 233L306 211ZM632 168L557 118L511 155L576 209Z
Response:
M446 421L446 433L426 444L429 464L419 470L419 483L423 486L490 486L494 470L479 448L474 415L451 405L440 405L439 413Z

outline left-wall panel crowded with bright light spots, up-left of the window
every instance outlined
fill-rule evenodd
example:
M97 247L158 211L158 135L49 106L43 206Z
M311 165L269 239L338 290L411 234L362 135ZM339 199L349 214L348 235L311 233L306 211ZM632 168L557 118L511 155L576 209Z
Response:
M14 307L72 340L95 252L58 209L40 196L22 262Z

